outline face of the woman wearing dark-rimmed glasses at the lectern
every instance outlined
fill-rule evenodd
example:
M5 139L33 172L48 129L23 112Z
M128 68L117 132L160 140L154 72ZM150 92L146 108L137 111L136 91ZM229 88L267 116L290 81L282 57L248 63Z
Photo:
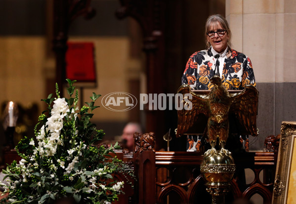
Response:
M222 28L222 26L220 25L220 23L214 23L211 25L210 27L210 30L209 31L214 31L216 32L217 30L219 29L222 29L222 30L225 30L224 28ZM210 38L208 35L207 35L207 40L208 42L211 43L211 46L212 48L218 52L218 53L221 53L223 52L226 47L227 47L227 41L228 41L228 34L227 32L225 31L224 35L223 36L218 36L217 33L215 33L214 37Z

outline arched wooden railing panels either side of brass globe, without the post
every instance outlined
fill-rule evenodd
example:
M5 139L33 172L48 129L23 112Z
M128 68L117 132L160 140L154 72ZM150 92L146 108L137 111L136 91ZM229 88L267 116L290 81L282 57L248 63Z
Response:
M270 204L274 179L269 179L266 183L260 180L259 174L264 171L266 177L274 178L275 155L273 153L251 153L251 155L246 154L234 158L238 171L231 182L231 190L225 198L226 202L232 202L238 198L250 200L254 194L259 194L264 204ZM200 174L201 160L202 156L194 156L187 152L156 152L156 172L161 172L157 173L156 177L157 203L166 203L169 199L167 196L174 192L181 203L211 204L211 196L205 191L205 182ZM246 161L248 162L245 163ZM178 171L178 168L183 170ZM244 172L245 168L251 168L254 171L254 181L250 184L246 184L244 176L239 174L239 172ZM179 181L180 177L184 179L182 182Z

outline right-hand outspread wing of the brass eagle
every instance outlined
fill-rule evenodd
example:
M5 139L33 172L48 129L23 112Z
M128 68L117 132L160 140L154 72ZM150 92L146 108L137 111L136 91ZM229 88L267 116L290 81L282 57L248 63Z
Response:
M230 111L251 135L257 136L258 90L253 85L247 85L243 91L232 94L232 97Z

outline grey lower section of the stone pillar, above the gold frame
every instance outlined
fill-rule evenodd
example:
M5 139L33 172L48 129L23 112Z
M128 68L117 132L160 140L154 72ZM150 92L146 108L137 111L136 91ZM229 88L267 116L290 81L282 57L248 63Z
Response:
M283 121L296 121L296 82L258 82L257 89L259 136L250 136L250 150L262 150L266 136L281 133Z

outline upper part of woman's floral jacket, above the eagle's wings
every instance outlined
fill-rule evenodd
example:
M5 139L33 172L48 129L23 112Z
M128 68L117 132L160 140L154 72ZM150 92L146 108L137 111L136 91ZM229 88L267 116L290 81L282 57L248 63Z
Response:
M182 84L189 84L192 89L209 90L210 79L214 76L215 59L211 47L193 53L182 76ZM247 84L256 85L252 62L248 56L228 48L222 71L222 82L226 89L244 89Z

